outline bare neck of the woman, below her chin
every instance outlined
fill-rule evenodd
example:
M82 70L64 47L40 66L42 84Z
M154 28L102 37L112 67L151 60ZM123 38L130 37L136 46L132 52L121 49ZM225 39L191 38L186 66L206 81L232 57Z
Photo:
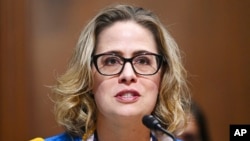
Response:
M141 122L141 119L123 118L97 120L98 141L149 141L150 130Z

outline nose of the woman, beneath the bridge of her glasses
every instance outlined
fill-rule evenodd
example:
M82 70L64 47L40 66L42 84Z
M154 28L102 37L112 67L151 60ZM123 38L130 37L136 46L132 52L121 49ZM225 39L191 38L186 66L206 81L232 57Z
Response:
M124 68L122 72L119 75L119 83L135 83L137 81L137 75L132 67L132 64L129 62L126 62L124 64Z

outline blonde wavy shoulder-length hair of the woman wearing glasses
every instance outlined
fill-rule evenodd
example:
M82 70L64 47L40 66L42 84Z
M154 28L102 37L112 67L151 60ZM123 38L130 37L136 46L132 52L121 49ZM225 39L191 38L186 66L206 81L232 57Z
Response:
M135 21L154 35L158 52L167 63L162 66L162 82L152 114L170 132L178 133L186 124L190 105L187 74L180 50L163 24L151 11L129 5L113 5L101 10L82 31L68 69L52 87L55 94L55 116L65 130L77 136L96 126L93 95L92 61L97 37L117 21Z

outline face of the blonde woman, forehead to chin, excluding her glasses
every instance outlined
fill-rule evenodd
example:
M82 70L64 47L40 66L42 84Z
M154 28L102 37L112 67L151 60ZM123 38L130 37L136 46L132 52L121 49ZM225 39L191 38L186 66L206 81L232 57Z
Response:
M116 22L98 36L95 54L115 53L131 58L140 52L158 54L152 33L132 21ZM104 76L92 66L98 116L135 117L150 114L156 104L161 70L154 75L143 76L134 72L131 63L114 76Z

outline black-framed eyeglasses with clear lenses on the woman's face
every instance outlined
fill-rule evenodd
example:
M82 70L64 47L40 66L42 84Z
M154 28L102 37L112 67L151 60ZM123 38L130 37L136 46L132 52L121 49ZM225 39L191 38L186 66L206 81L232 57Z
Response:
M114 53L103 53L92 56L97 71L106 76L120 74L127 62L129 62L136 74L154 75L162 63L163 57L154 53L143 53L132 58L124 58Z

